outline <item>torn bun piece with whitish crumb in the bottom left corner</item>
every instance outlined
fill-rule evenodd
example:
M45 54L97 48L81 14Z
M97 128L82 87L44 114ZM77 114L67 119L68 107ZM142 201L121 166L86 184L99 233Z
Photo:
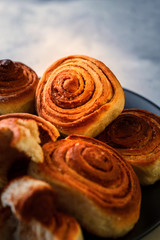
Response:
M83 240L77 221L56 209L56 193L40 180L13 180L2 193L2 204L18 219L16 240Z

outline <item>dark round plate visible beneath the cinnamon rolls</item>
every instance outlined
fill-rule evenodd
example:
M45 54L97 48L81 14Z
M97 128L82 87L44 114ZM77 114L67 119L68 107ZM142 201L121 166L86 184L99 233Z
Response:
M160 108L146 98L129 90L125 91L125 108L148 110L160 116ZM142 187L142 205L139 221L132 231L120 240L139 240L160 224L160 181ZM85 240L102 240L84 231ZM107 238L107 240L109 240Z

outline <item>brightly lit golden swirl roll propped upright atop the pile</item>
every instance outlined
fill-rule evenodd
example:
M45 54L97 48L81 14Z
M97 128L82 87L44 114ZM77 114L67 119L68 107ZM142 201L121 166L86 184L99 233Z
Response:
M59 59L36 90L38 115L64 135L95 137L124 108L123 89L104 63L83 55Z

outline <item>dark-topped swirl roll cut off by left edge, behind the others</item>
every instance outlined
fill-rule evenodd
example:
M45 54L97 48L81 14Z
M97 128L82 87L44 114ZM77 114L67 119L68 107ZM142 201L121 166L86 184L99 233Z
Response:
M37 74L28 66L9 59L0 60L0 115L35 112Z

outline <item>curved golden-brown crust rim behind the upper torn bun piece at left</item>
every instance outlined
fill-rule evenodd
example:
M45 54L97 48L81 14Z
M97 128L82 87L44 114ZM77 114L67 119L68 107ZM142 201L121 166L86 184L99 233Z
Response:
M0 116L0 123L3 119L22 119L34 120L38 125L40 144L43 145L49 141L56 141L60 136L57 128L45 119L29 113L10 113Z

